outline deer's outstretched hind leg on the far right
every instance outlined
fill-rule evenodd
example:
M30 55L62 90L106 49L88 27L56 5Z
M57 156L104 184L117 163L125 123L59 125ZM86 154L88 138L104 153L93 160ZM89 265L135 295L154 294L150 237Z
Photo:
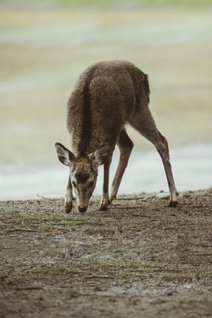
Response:
M139 131L140 134L146 137L148 141L151 141L151 143L153 143L158 153L160 154L160 158L163 161L163 166L167 177L167 183L170 189L169 206L177 206L178 193L172 175L172 167L170 164L170 155L167 140L162 134L160 134L160 131L158 131L151 112L148 109L148 105L141 106L139 114L136 114L135 117L131 119L130 124L137 131Z

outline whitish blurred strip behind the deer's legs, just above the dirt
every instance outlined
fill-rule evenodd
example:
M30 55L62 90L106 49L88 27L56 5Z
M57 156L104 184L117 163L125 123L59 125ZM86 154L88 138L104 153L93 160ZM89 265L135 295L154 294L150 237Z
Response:
M170 149L170 159L175 183L179 192L212 187L212 144L184 146ZM114 154L110 183L118 162ZM47 198L64 196L69 169L61 163L1 165L0 200L37 199L37 194ZM167 192L163 163L153 151L133 151L126 168L119 194L141 192ZM102 167L94 194L102 192Z

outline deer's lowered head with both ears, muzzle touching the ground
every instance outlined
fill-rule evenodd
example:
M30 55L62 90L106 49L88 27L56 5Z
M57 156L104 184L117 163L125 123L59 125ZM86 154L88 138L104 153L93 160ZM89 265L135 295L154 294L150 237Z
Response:
M107 160L109 143L102 143L93 153L83 155L74 155L61 143L55 143L55 147L59 161L70 169L71 185L76 195L78 211L86 212L97 182L98 167Z

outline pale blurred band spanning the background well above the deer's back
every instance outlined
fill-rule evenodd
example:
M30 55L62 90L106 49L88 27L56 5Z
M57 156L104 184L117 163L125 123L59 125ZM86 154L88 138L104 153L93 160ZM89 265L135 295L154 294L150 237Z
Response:
M36 27L21 27L0 32L0 43L52 47L66 45L119 45L158 46L204 41L212 38L211 17L187 18L178 22L140 23L102 29L98 22L55 23ZM134 36L132 36L134 35Z

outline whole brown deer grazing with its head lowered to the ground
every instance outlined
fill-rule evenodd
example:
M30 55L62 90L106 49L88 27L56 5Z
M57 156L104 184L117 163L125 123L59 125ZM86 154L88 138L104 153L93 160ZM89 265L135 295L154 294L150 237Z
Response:
M126 133L126 124L155 146L165 168L170 190L169 206L177 206L178 193L167 140L155 125L148 107L149 95L148 75L129 61L100 61L81 73L66 108L71 151L61 143L55 143L59 161L69 167L64 200L66 213L71 212L73 192L78 211L87 211L100 165L104 165L100 211L106 211L117 197L134 147ZM110 163L116 145L119 163L109 196Z

